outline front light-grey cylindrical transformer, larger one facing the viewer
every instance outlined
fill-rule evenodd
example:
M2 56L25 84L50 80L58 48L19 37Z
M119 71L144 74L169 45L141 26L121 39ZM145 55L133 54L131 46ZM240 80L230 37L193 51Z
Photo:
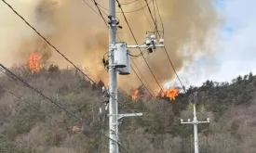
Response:
M125 42L115 44L114 64L115 68L125 68L127 66L127 44Z

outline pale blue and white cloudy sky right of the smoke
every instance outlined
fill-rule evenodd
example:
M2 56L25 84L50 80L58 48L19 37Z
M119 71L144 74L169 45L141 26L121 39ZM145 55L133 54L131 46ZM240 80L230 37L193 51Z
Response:
M184 84L198 86L208 79L231 82L249 71L256 74L255 6L256 0L217 0L225 21L218 42L221 51L213 57L199 57L188 69L179 71Z

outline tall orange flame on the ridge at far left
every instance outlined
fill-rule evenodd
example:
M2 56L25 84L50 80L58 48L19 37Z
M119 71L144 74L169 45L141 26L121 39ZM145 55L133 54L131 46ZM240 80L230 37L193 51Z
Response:
M37 72L42 69L41 59L42 59L42 57L38 56L34 52L31 53L28 63L29 63L29 68L32 73Z

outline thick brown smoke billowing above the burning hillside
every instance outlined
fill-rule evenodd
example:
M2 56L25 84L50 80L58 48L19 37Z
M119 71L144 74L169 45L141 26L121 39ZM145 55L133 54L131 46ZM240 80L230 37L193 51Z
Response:
M102 19L98 17L82 0L8 0L17 11L27 19L47 40L55 45L63 55L74 61L77 66L88 70L89 75L98 82L100 79L107 83L108 73L104 70L101 59L108 51L108 30ZM87 1L91 6L93 4ZM122 1L120 0L122 3ZM145 2L140 1L144 6ZM150 1L148 1L150 2ZM107 2L99 1L108 7ZM214 0L162 0L157 1L165 26L165 45L176 70L181 70L184 63L191 63L196 54L210 55L215 52L209 43L220 23ZM122 6L125 11L141 7L139 1ZM150 4L152 6L152 3ZM24 22L9 10L4 4L0 5L0 60L7 66L27 61L33 51L44 55L46 63L58 64L61 68L69 66L67 61L58 55ZM95 7L95 6L93 6ZM96 9L96 7L95 7ZM96 9L97 10L97 9ZM153 16L154 8L151 7ZM116 7L116 11L120 11ZM146 16L151 20L147 7L144 11L127 14L130 26L139 42L145 41L145 32L153 31ZM128 45L135 45L122 17L117 14L120 24L124 27L118 30L121 40ZM157 12L158 29L162 31ZM131 54L139 54L131 50ZM174 77L174 72L168 63L166 53L158 49L153 54L145 54L147 62L155 74L157 81L163 86ZM143 78L153 90L159 89L155 79L147 68L142 57L134 58ZM133 66L135 69L135 67ZM137 69L135 69L137 70ZM140 73L137 71L140 75ZM140 80L132 72L129 76L118 78L119 87L129 90L141 85Z

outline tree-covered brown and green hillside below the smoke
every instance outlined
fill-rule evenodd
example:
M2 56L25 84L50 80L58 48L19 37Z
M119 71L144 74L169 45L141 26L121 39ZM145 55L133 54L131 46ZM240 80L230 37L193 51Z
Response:
M76 70L50 67L34 74L26 66L11 70L71 110L87 126L1 73L0 85L5 87L0 86L1 153L96 153L100 144L101 152L108 152L107 138L92 130L101 132L103 127L99 115L104 101L101 87L89 83ZM232 83L207 81L200 87L191 86L176 100L158 99L159 105L142 94L134 102L120 91L120 112L143 112L141 118L125 119L120 124L122 146L133 153L194 152L192 126L181 125L180 119L192 119L191 103L196 102L198 119L209 117L211 121L198 129L201 153L255 153L255 91L256 76L252 73L238 76ZM83 128L73 132L74 126ZM126 151L121 147L121 152Z

